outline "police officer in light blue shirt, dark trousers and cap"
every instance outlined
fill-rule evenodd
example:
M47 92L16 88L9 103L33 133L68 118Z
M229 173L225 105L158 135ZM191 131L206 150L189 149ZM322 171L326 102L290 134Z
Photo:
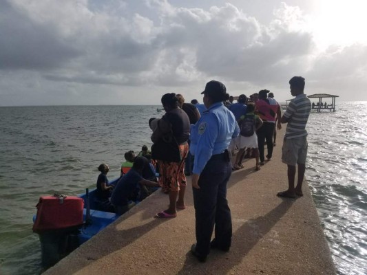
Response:
M228 251L231 246L231 210L226 199L232 172L228 146L240 129L233 113L224 107L229 94L223 83L211 80L201 94L207 111L192 125L190 137L190 152L195 157L191 184L196 217L196 244L191 252L205 262L211 248ZM215 239L211 241L214 225Z

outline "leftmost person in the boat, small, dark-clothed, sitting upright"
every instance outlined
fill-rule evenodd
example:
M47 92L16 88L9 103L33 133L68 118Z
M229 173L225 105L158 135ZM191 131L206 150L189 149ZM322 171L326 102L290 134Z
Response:
M113 212L111 203L109 203L109 196L114 186L109 185L107 179L109 167L107 164L101 164L98 166L98 171L101 172L101 174L98 175L96 183L96 203L98 205L98 210Z

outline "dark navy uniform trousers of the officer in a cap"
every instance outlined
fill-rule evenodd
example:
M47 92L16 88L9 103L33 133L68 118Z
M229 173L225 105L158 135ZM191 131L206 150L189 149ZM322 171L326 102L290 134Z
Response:
M216 244L222 248L231 246L232 221L228 206L227 182L232 173L228 151L213 155L200 174L200 189L193 188L196 217L196 252L207 256L215 225ZM227 154L227 157L224 156Z

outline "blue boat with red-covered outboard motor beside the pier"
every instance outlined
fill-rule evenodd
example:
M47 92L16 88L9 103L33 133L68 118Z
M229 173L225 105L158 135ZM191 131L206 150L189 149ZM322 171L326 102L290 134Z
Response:
M111 185L116 185L119 178L116 178L109 182ZM52 199L54 198L54 199ZM56 207L59 207L58 210L54 211L54 206L50 207L49 216L54 216L51 218L43 218L43 221L37 220L37 214L39 214L39 205L37 208L37 214L33 216L34 222L34 232L39 234L39 239L41 242L41 262L43 267L48 268L52 265L56 264L59 260L61 260L64 256L67 256L70 252L78 248L79 245L85 243L86 241L90 240L92 236L106 228L110 223L116 221L120 215L113 213L113 212L106 212L98 210L97 200L96 200L96 188L89 192L89 189L86 189L86 192L78 195L77 197L69 196L70 199L74 199L74 201L79 201L78 204L82 203L83 205L83 220L76 222L76 224L71 224L65 228L65 221L61 221L65 217L60 217L60 211L63 201L68 197L65 195L54 195L54 196L45 196L40 198L40 203L42 199L44 201L54 201L53 204L56 204ZM138 203L136 201L135 203ZM66 203L65 203L66 204ZM45 207L47 208L47 207ZM72 216L70 212L75 212L77 209L70 210L70 207L65 207L64 213L65 215ZM57 215L55 213L58 213ZM40 214L41 216L41 214ZM56 216L56 217L55 217ZM61 216L63 216L61 214ZM80 217L81 218L81 217ZM52 219L53 223L58 223L55 221L56 219L60 220L60 228L57 228L57 225L50 225L47 224L47 219ZM66 217L65 219L68 219ZM74 219L71 217L70 219ZM41 227L43 226L43 230L39 228L35 228L36 223L40 224ZM52 227L52 229L50 229ZM46 229L44 229L46 228Z

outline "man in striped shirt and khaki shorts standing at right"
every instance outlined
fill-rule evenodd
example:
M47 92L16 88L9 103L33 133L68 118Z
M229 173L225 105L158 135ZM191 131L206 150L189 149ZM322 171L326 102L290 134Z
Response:
M288 123L282 148L282 162L288 165L288 190L278 192L278 197L302 197L302 182L306 170L307 131L306 124L311 111L311 102L304 94L304 78L293 76L289 80L291 94L295 96L280 120ZM295 186L295 166L298 166L297 186Z

